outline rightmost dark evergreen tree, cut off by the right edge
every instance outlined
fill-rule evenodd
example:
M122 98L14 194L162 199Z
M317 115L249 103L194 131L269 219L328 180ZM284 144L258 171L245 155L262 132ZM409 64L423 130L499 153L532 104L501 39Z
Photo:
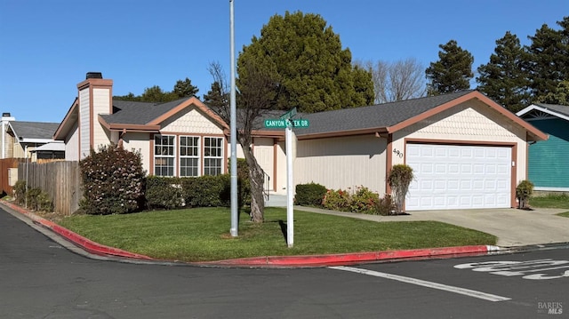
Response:
M544 24L534 36L528 36L532 44L526 47L526 68L536 100L555 92L559 82L569 79L569 17L557 24L561 26L558 31Z

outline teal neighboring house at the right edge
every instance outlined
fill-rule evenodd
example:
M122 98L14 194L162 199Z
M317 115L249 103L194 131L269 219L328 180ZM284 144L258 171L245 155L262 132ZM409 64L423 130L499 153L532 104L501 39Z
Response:
M535 190L569 191L569 107L536 103L517 116L549 134L529 146L528 179Z

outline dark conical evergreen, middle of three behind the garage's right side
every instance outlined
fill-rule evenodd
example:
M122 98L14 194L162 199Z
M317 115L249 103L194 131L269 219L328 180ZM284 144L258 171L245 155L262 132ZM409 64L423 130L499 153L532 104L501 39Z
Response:
M490 62L478 67L478 90L512 112L525 108L530 97L523 70L525 52L509 31L496 41Z

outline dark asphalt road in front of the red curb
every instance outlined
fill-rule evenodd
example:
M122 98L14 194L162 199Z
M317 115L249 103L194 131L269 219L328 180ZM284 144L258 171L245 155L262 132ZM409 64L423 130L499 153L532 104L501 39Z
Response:
M0 318L569 316L566 248L355 267L240 269L92 259L66 246L0 211Z

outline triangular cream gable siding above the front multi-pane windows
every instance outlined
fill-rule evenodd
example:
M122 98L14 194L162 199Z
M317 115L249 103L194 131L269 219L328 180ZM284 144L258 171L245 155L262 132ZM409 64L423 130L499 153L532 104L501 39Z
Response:
M192 134L223 134L220 126L213 124L211 119L204 116L196 108L188 108L176 116L164 121L162 124L165 132L192 133Z

